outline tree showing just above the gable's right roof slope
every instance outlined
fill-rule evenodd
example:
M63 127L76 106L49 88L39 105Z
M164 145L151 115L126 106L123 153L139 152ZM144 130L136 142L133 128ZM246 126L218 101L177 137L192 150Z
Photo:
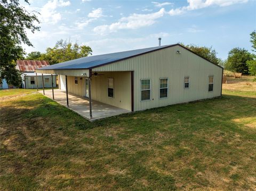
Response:
M223 63L223 61L217 57L217 52L212 46L209 48L206 46L186 45L186 47L214 64L221 65Z

